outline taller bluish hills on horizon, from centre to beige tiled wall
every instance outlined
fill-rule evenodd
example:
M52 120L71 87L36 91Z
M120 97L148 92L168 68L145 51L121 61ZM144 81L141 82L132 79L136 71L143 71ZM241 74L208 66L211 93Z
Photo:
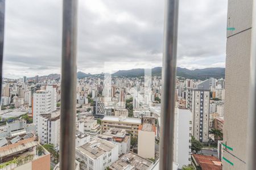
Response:
M113 76L128 76L136 77L143 76L144 69L131 69L131 70L119 70L112 74ZM162 75L162 67L155 67L152 69L152 75ZM207 69L196 69L189 70L181 67L177 67L177 76L182 76L189 79L208 79L213 78L225 78L225 68L207 68Z

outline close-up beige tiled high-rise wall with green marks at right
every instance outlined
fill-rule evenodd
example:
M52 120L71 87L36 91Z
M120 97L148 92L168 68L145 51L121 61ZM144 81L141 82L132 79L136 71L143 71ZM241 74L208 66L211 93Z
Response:
M247 113L250 84L253 0L229 0L223 169L247 169ZM219 82L219 81L218 81Z

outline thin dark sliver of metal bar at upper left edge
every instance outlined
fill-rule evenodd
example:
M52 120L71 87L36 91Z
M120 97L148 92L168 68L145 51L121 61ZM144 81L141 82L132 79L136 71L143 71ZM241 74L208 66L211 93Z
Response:
M3 40L5 35L5 0L0 0L0 99L2 96Z

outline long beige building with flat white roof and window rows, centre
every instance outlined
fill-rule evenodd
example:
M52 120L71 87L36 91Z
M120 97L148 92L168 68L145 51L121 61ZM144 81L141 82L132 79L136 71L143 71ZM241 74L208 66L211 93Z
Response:
M117 128L125 129L128 133L137 137L139 125L141 125L140 118L105 116L101 120L102 133L110 128Z

